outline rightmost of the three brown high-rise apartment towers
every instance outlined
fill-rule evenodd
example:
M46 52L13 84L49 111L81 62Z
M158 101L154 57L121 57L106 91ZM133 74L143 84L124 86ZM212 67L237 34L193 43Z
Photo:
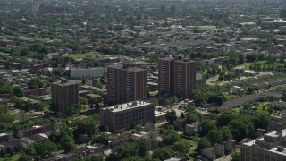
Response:
M196 88L196 62L181 56L161 58L158 76L159 93L189 97Z

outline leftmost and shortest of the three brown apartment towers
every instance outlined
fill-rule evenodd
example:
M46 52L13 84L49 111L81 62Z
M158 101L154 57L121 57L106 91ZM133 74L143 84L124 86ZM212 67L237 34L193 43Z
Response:
M79 103L80 82L75 80L61 80L51 86L52 101L58 112L64 108Z

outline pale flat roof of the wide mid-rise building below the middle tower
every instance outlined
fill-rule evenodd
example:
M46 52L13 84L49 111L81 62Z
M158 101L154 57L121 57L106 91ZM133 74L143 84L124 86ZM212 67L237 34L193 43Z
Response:
M134 104L135 102L136 102L136 105L132 106L132 104ZM116 112L131 109L131 108L137 108L139 106L147 106L147 105L152 105L152 104L146 101L134 101L134 102L128 102L128 103L119 104L115 106L108 106L108 107L102 108L102 110L105 110L105 111L108 110L108 111L116 113Z

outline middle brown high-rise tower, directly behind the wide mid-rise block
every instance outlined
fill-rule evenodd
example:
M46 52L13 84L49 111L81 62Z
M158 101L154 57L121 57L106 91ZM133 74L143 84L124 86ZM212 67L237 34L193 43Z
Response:
M107 101L121 104L147 100L147 70L128 65L107 68Z

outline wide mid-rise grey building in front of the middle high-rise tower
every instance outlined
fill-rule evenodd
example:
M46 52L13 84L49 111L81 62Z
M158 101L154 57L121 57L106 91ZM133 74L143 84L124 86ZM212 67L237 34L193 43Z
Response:
M105 131L120 131L139 123L153 123L155 106L145 101L132 101L100 109L100 126Z

